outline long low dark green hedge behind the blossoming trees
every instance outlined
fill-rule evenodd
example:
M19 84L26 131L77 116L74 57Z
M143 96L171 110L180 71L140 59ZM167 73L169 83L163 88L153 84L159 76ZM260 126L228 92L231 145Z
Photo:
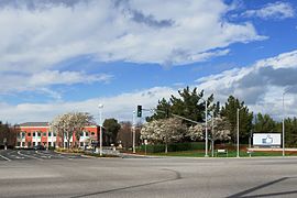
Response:
M142 145L141 151L145 151L145 145ZM168 144L168 152L179 152L179 151L193 151L193 150L204 150L204 142L183 142L183 143L172 143ZM165 151L165 144L150 144L146 145L147 153L162 153Z

